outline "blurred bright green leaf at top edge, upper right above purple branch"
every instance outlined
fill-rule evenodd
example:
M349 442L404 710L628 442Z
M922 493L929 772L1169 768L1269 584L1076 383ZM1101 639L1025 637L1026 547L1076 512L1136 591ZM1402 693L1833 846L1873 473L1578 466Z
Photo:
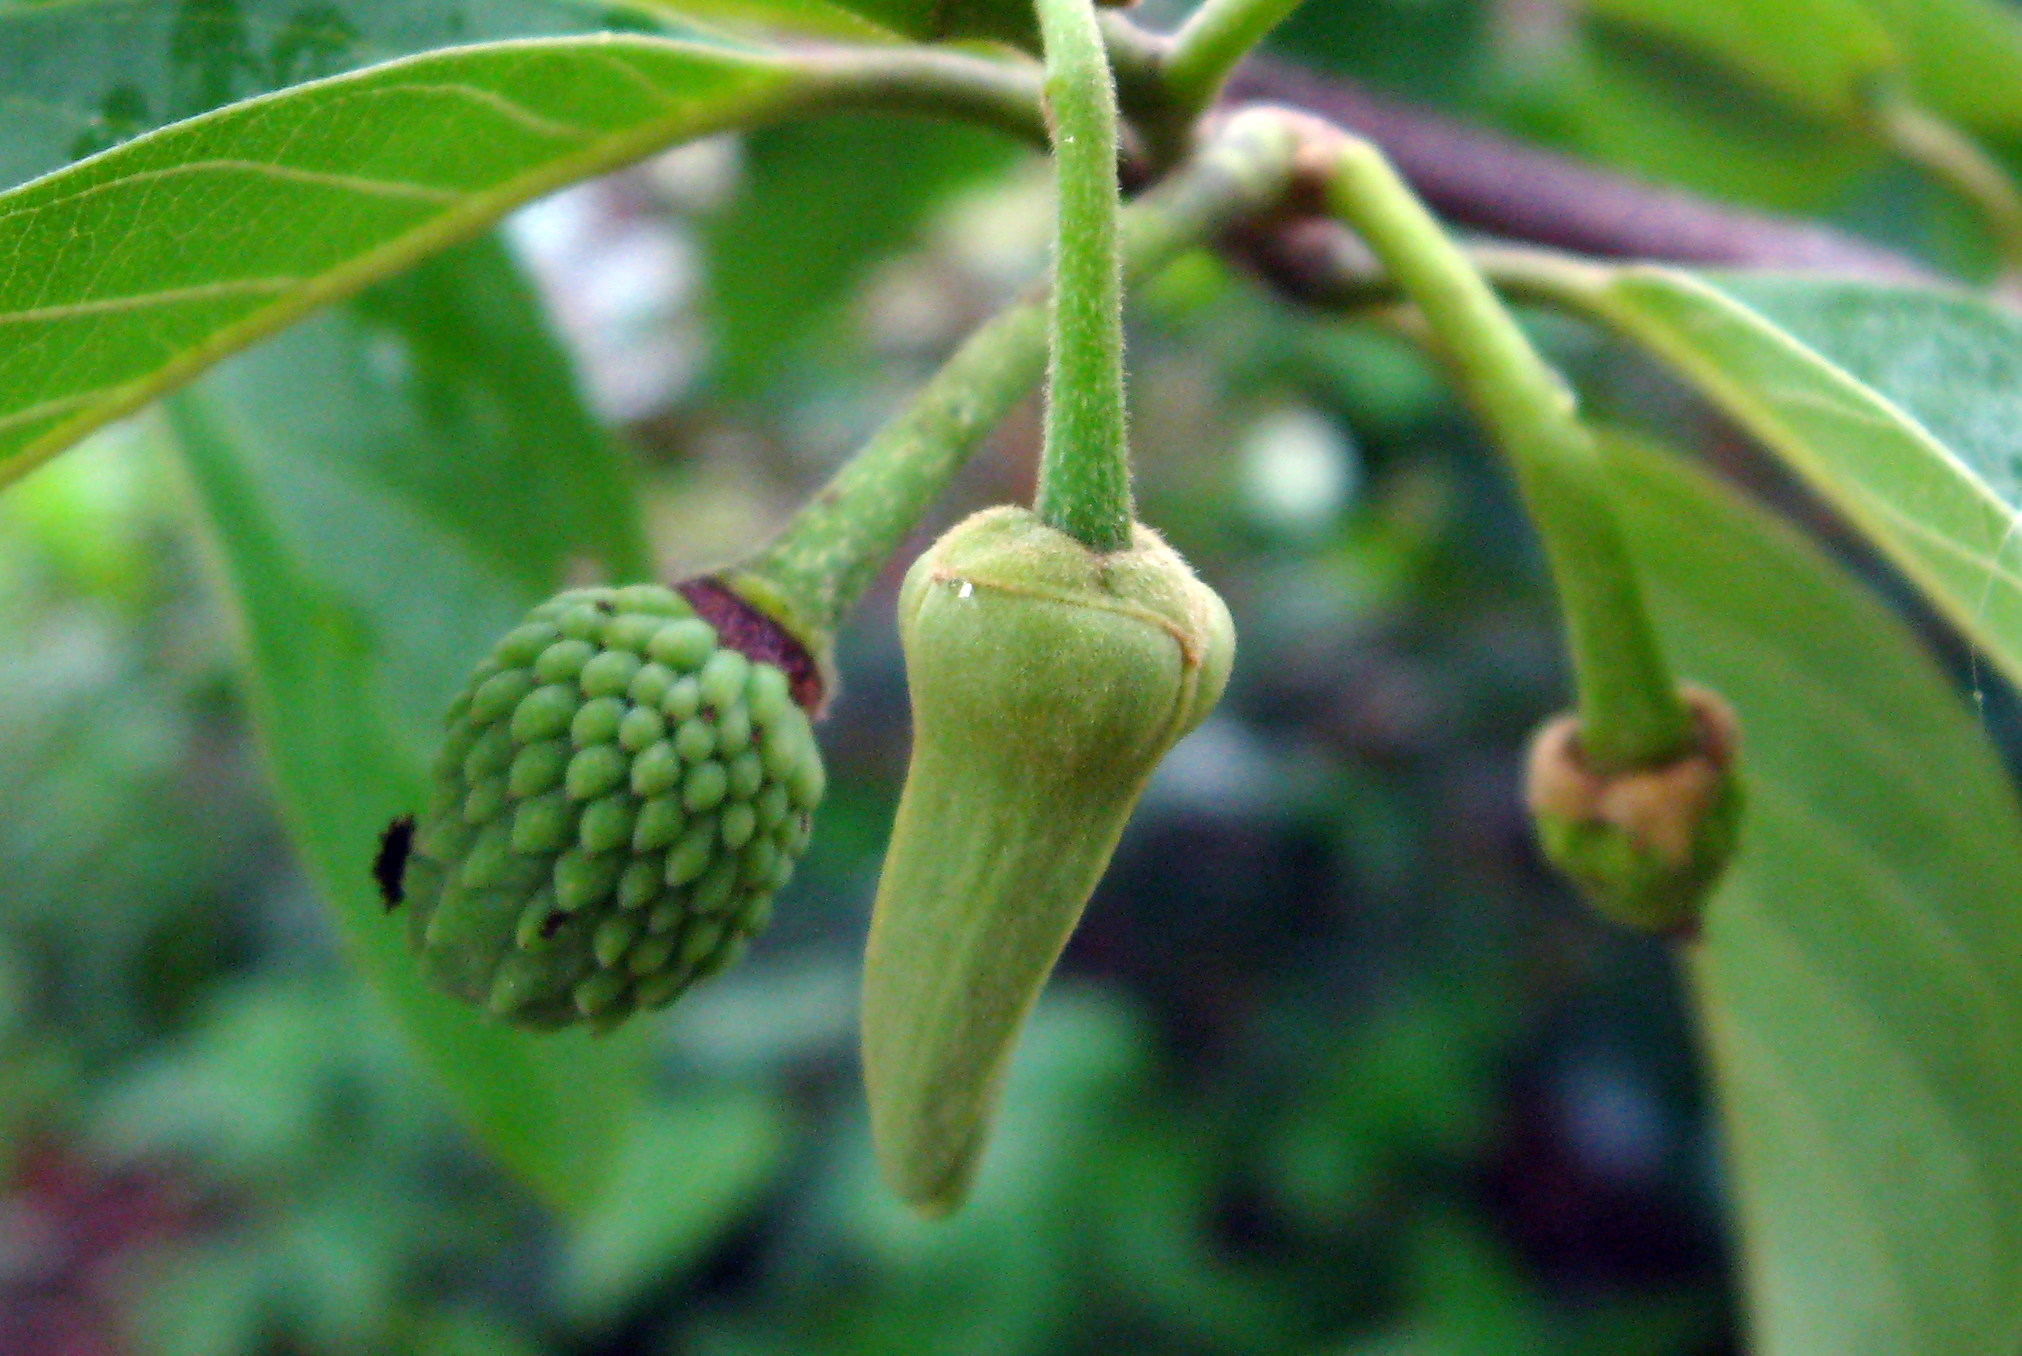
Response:
M1626 28L1698 51L1798 107L1844 117L1897 67L1889 32L1860 0L1585 0Z

